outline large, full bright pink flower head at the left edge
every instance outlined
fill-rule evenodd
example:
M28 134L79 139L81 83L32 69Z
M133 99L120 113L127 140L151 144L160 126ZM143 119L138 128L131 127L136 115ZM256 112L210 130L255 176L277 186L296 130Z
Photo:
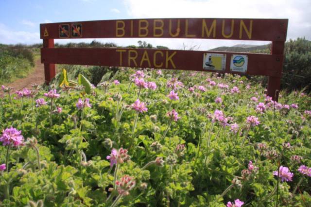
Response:
M21 131L17 131L16 128L6 128L2 131L2 137L0 141L3 146L13 144L15 147L23 145L24 137L21 135Z

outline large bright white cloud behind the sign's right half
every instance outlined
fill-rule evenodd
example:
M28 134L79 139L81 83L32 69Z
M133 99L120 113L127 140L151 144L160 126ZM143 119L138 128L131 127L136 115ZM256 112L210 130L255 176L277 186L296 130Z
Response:
M311 39L311 0L123 0L133 18L288 18L287 37L305 36ZM264 29L264 28L263 28ZM182 47L183 42L201 45L202 50L235 44L267 44L262 41L238 40L161 40L170 48ZM158 39L151 39L154 44ZM164 44L163 44L164 45Z

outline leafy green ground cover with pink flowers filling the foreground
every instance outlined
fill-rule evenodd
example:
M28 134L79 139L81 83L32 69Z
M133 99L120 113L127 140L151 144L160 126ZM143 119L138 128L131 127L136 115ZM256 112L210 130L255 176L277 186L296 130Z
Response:
M2 86L1 206L308 206L311 98L245 77L120 69ZM83 81L85 80L85 81Z

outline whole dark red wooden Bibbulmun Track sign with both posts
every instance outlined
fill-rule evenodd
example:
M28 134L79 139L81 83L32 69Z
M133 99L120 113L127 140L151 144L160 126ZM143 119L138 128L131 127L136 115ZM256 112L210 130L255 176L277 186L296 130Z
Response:
M54 64L216 71L269 76L267 95L277 99L288 19L161 18L40 24L45 80ZM272 41L271 54L154 49L55 49L61 38L199 38Z

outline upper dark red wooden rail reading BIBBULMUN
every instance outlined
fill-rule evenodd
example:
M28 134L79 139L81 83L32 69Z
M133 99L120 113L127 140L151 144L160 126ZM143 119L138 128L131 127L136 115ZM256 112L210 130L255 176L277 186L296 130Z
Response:
M286 41L288 19L154 18L40 24L41 39L198 38Z

